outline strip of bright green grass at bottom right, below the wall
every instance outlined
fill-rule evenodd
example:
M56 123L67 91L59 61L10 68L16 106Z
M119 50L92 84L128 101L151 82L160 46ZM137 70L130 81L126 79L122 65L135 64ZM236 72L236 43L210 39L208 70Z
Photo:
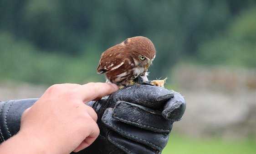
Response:
M172 135L163 154L256 154L256 141L192 139Z

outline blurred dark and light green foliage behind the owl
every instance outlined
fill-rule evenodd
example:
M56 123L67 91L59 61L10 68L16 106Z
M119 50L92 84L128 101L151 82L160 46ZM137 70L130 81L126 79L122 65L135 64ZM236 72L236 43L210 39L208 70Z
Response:
M100 54L138 35L158 51L152 78L180 61L256 67L255 10L255 0L0 0L0 77L102 80Z

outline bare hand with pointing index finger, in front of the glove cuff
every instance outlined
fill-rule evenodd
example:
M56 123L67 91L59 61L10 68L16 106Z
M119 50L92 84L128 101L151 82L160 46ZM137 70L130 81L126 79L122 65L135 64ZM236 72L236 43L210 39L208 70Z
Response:
M97 114L85 103L117 91L109 83L49 87L21 117L20 131L0 145L0 154L69 154L99 135Z

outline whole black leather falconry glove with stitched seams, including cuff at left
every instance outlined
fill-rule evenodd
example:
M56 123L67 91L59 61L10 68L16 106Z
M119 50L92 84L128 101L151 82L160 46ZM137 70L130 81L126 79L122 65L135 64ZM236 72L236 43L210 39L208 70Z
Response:
M0 103L0 142L18 132L23 111L36 100ZM100 135L79 154L159 154L185 110L179 93L147 85L125 87L88 105L97 112Z

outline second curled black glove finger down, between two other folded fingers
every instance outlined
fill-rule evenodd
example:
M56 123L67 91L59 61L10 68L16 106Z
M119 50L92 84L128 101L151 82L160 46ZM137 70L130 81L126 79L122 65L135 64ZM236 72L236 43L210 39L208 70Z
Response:
M114 119L112 115L113 108L108 108L102 116L102 122L110 129L116 131L118 134L158 150L162 150L167 144L168 135L155 133L149 130L138 129L138 127L127 125Z

